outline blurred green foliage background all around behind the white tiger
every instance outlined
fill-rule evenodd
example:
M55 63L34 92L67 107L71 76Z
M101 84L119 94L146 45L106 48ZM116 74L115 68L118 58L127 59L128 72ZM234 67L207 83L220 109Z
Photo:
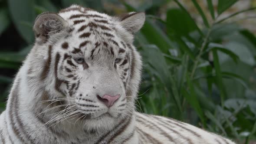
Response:
M0 0L0 111L33 46L33 21L73 3L145 11L137 110L250 143L256 139L255 0Z

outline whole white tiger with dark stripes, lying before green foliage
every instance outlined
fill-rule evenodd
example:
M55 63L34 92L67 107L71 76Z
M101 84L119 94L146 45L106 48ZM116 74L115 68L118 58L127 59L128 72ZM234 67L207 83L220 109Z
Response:
M190 124L135 112L144 13L72 5L42 13L35 44L0 115L1 144L234 144Z

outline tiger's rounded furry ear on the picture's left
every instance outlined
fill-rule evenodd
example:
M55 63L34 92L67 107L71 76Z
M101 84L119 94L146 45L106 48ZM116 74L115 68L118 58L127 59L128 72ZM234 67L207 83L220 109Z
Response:
M42 13L37 16L33 30L36 38L45 42L50 35L59 33L66 27L68 27L68 23L57 13Z

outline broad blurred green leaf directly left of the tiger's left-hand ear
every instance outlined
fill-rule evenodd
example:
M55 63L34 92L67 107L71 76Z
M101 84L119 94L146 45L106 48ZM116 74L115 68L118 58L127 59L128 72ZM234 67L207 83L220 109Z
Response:
M8 6L13 23L28 44L34 40L34 33L31 27L22 23L33 23L36 18L34 0L8 0Z

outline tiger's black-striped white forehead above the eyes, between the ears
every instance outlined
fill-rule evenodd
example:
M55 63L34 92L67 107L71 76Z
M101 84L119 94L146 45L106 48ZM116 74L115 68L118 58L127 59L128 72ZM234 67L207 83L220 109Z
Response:
M115 22L105 13L98 13L84 7L71 7L59 12L70 26L69 43L62 43L62 48L72 45L73 53L79 49L94 49L98 46L107 47L125 53L125 43L115 34Z

